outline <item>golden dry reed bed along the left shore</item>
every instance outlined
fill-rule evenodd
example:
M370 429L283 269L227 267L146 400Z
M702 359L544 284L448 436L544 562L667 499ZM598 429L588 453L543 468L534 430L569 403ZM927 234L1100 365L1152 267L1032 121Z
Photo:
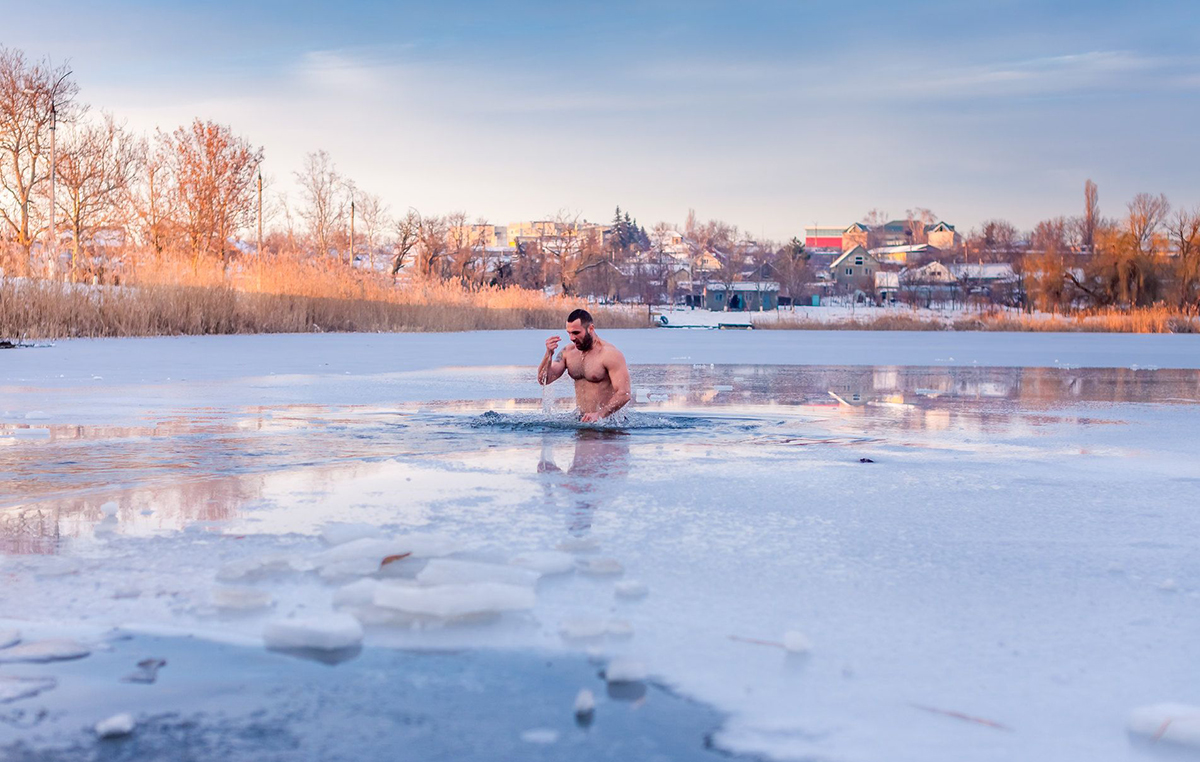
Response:
M186 275L186 277L185 277ZM120 286L0 281L0 337L22 340L320 331L557 329L577 300L517 288L451 282L391 283L272 262L234 274L162 260ZM644 310L589 307L604 328L642 328Z

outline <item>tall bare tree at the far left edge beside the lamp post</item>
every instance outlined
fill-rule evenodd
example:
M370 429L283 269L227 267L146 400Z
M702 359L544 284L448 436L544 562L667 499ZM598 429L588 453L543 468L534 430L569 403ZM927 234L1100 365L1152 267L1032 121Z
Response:
M65 65L31 64L20 50L0 48L0 218L25 250L26 272L37 236L34 199L50 175L52 127L76 118L78 91Z

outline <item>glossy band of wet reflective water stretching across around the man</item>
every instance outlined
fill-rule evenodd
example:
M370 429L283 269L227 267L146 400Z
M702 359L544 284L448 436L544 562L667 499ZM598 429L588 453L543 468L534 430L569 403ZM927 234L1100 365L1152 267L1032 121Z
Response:
M454 372L481 390L528 383L527 368ZM581 428L565 409L541 412L541 397L176 407L104 426L0 422L0 552L54 552L62 538L89 535L114 498L122 532L175 530L246 516L281 476L306 482L290 499L314 502L331 484L380 478L385 463L499 451L527 452L523 462L538 463L535 490L583 534L655 448L739 460L797 445L944 446L1123 424L1129 408L1117 406L1129 403L1200 401L1200 372L1182 370L661 365L635 367L634 383L636 403L619 431ZM406 485L384 479L378 492L403 499Z

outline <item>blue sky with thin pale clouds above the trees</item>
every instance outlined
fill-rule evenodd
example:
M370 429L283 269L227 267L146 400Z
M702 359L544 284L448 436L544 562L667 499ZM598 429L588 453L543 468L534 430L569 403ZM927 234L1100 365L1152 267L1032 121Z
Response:
M402 210L649 227L694 208L785 239L878 208L971 228L1200 203L1200 2L24 4L139 130L215 119L276 187L328 150ZM18 34L19 31L19 34Z

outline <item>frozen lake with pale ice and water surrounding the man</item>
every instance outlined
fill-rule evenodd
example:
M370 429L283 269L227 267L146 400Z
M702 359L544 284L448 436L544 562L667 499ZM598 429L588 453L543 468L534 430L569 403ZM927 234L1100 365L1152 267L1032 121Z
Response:
M566 659L558 682L530 678L565 696L565 725L539 736L538 702L504 714L502 758L578 757L572 733L604 727L661 727L674 758L1172 752L1127 722L1200 704L1200 337L601 331L636 402L581 430L566 382L544 400L533 380L545 335L0 354L0 641L70 637L84 665L121 650L113 628L167 650L199 635L251 649L210 661L251 664L269 623L336 610L365 641L312 672L334 696L428 668L394 649L505 654L476 686ZM354 526L323 539L330 522ZM374 544L331 547L352 535ZM394 546L415 551L383 564ZM510 588L520 605L475 611ZM181 649L136 698L114 679L106 714L79 700L103 696L94 671L5 650L0 701L6 677L56 682L0 703L0 751L78 744L191 690ZM644 667L649 692L586 684L587 659ZM570 721L583 688L593 730Z

